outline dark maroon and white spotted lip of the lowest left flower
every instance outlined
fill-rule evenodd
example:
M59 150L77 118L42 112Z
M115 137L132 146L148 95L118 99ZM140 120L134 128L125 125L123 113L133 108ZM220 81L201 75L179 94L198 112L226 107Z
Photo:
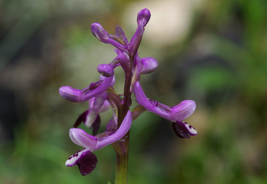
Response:
M70 156L65 165L78 165L80 173L85 176L96 168L97 161L95 154L93 154L90 149L83 149L82 151L78 151L75 155Z

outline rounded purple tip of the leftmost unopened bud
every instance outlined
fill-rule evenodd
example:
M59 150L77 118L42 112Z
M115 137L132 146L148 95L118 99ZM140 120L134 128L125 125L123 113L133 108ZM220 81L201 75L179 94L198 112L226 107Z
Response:
M59 94L66 100L78 103L83 100L82 91L74 89L70 86L62 86L59 88Z

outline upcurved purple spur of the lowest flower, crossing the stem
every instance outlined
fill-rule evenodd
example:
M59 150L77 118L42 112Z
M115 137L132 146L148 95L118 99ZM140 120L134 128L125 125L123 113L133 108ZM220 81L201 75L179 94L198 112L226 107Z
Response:
M113 142L120 140L129 131L131 124L132 124L132 115L131 111L128 110L119 129L111 135L105 136L102 139L98 139L96 148L92 148L91 151L99 150L102 147L105 147L109 144L112 144Z

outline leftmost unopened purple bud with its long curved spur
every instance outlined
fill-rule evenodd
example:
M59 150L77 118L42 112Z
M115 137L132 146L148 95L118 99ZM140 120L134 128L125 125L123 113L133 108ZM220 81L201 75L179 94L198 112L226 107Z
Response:
M82 103L104 93L111 85L112 80L113 76L105 77L103 81L91 83L90 86L82 90L72 88L71 86L62 86L59 88L59 94L64 99L73 103Z

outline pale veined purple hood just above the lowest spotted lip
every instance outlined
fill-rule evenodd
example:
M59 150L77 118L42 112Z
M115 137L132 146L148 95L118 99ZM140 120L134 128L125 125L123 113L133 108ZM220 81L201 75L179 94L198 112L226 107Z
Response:
M87 134L82 129L71 128L69 130L69 137L75 144L85 148L95 148L97 140L94 136Z

